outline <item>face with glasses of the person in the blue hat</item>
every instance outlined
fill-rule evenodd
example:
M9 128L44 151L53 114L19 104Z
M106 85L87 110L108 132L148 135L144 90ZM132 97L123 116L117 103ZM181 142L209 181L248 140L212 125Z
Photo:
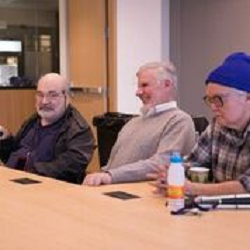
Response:
M221 126L244 130L250 120L250 101L246 92L209 83L206 101Z

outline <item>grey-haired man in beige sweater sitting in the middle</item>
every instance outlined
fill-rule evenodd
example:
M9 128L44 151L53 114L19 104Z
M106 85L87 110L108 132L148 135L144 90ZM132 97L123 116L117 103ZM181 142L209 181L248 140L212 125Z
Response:
M138 73L136 95L141 115L121 130L107 166L86 176L83 184L97 186L147 180L173 151L191 152L195 130L190 115L177 107L177 76L170 62L148 63Z

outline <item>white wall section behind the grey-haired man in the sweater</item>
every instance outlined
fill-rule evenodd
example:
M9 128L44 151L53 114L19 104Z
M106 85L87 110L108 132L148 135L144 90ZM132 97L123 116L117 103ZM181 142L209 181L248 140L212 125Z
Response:
M169 56L169 0L117 0L117 100L119 112L138 113L136 72Z

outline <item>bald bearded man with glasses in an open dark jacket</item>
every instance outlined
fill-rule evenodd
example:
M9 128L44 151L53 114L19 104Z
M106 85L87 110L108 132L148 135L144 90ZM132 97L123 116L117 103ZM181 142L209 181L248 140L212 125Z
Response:
M6 166L71 183L82 183L94 137L81 114L69 104L69 85L49 73L38 81L36 113L15 136L1 127L0 157Z

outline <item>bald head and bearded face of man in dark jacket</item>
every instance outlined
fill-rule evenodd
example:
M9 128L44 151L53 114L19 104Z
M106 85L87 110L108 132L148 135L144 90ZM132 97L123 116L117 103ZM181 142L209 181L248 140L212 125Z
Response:
M36 110L42 125L51 124L62 117L68 103L67 80L64 77L50 73L39 80Z

